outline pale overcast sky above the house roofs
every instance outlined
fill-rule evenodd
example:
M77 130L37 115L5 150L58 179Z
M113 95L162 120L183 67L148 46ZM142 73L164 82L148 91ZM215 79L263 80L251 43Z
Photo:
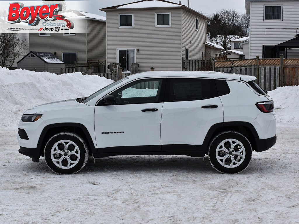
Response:
M138 0L91 0L91 1L80 1L78 4L75 1L68 1L67 8L74 10L82 10L88 13L94 13L101 16L106 16L105 12L100 11L101 8L106 8L110 6L120 5L135 2ZM168 0L171 2L179 3L179 0ZM22 0L6 0L6 3L21 2L24 5L28 5L28 1ZM1 3L1 2L0 2ZM0 9L8 11L7 4L0 4ZM181 4L188 4L188 0L181 0ZM5 6L4 6L5 5ZM204 15L211 15L216 11L222 9L234 9L237 12L245 13L245 1L244 0L190 0L190 8L202 12Z

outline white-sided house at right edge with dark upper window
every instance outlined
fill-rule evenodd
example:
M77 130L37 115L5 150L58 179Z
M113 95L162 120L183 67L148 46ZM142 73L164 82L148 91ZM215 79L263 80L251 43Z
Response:
M245 7L250 15L249 58L277 58L280 53L299 58L299 41L292 49L277 46L299 32L298 0L245 0Z

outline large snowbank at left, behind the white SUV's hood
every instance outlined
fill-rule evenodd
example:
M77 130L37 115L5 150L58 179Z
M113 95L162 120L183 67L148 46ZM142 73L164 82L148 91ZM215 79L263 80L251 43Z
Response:
M80 72L8 70L0 67L0 127L16 127L25 110L48 102L89 96L113 81Z

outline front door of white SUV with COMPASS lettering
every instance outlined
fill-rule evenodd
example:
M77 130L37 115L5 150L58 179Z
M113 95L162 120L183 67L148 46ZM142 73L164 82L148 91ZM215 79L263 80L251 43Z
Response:
M99 153L101 148L102 152L122 152L128 151L128 147L130 152L161 151L164 86L165 80L160 78L134 81L111 93L114 105L95 106L94 128Z

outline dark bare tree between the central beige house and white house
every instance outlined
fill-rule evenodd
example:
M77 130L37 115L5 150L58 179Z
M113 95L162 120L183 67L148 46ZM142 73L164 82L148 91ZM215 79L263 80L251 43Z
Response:
M217 45L227 49L229 42L239 37L242 27L242 16L236 10L224 9L213 14L207 26L208 32L213 33L211 39Z

